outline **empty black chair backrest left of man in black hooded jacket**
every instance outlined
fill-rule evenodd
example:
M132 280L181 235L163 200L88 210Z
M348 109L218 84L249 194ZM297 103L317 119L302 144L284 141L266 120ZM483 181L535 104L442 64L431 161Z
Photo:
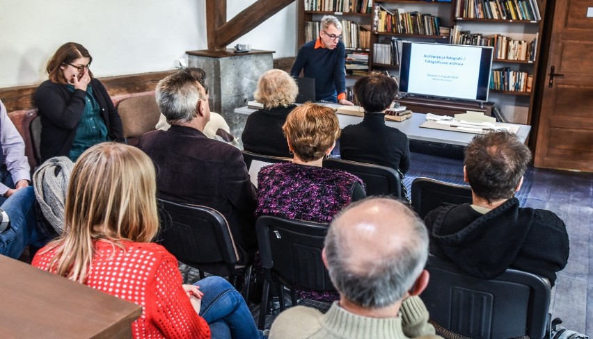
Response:
M471 204L471 188L454 185L429 178L416 178L412 181L412 208L424 217L441 206Z

